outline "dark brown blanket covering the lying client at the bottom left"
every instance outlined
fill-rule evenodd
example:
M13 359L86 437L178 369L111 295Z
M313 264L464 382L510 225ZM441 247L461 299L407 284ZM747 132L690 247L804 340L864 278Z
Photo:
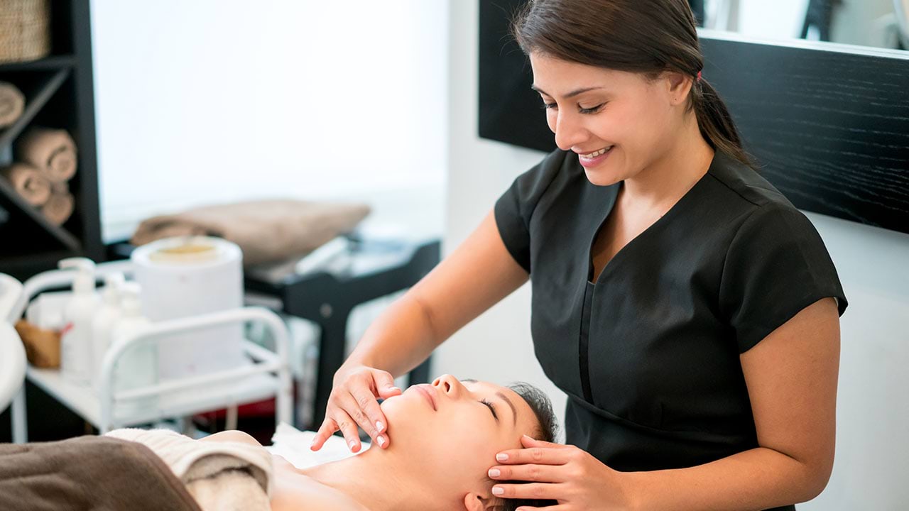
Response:
M148 447L105 436L0 444L0 509L200 511Z

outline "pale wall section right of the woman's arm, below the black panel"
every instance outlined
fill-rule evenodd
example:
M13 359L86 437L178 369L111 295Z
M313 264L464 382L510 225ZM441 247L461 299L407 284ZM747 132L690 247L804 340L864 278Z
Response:
M824 238L849 308L840 326L836 462L804 511L909 506L909 235L808 215Z

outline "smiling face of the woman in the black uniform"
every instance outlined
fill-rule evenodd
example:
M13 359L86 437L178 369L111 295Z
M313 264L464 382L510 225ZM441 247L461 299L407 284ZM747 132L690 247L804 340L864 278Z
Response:
M538 53L530 54L530 63L555 144L577 154L594 185L634 177L678 140L685 111L674 76L650 81Z

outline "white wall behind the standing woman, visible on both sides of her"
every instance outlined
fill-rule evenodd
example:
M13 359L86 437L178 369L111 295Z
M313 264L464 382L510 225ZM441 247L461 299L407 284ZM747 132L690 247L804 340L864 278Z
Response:
M450 97L445 251L474 228L542 154L476 135L477 5L449 2ZM837 457L824 493L803 511L897 511L909 502L909 235L809 215L850 306L842 319ZM466 326L435 355L435 373L522 379L564 406L534 359L528 286ZM561 413L560 413L561 416Z

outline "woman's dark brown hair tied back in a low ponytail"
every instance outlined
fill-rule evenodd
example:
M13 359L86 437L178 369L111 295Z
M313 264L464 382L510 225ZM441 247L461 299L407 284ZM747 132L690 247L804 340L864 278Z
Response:
M688 111L714 150L754 168L723 100L703 77L704 55L688 0L530 0L514 15L524 54L645 75L665 71L694 80Z

